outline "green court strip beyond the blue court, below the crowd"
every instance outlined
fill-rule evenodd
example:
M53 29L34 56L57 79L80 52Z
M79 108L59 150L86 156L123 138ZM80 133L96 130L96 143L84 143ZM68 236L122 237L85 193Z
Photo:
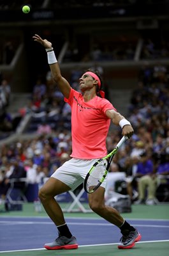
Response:
M64 208L65 204L61 204ZM87 205L86 205L87 207ZM126 219L163 219L169 220L169 204L158 205L132 205L132 212L121 214ZM33 203L23 204L23 211L0 212L1 216L47 216L44 209L41 212L34 211ZM99 218L94 212L65 212L66 217Z

